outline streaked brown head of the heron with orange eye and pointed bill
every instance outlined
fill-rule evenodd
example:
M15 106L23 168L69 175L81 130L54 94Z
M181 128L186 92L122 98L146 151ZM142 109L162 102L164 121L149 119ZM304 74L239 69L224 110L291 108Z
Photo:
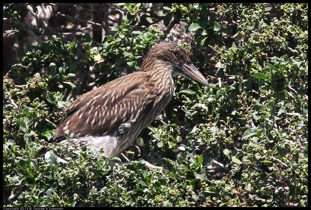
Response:
M163 61L163 62L155 62ZM163 67L161 66L163 65ZM173 75L193 79L209 87L205 77L192 64L186 51L172 42L161 42L155 45L147 54L141 71L169 67Z

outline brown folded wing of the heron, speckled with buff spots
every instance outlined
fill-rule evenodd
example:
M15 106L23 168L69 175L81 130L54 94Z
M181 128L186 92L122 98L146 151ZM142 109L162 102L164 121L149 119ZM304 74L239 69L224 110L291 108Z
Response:
M152 106L149 78L145 72L135 72L82 95L67 108L53 138L126 132Z

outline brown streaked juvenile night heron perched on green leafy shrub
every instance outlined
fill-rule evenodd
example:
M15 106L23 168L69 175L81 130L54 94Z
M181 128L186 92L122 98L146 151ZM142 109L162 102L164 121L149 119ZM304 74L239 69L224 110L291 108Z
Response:
M185 50L174 43L159 43L149 51L139 72L115 79L75 100L65 111L53 139L73 135L102 147L105 156L117 156L169 103L175 91L173 75L209 86Z

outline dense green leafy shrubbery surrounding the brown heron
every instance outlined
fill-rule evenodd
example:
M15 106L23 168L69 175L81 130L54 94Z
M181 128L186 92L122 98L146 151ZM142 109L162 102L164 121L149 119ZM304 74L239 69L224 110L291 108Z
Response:
M4 206L308 206L307 3L5 3L3 17L3 48L21 53L4 64ZM130 162L53 142L75 98L167 37L211 87L176 78Z

